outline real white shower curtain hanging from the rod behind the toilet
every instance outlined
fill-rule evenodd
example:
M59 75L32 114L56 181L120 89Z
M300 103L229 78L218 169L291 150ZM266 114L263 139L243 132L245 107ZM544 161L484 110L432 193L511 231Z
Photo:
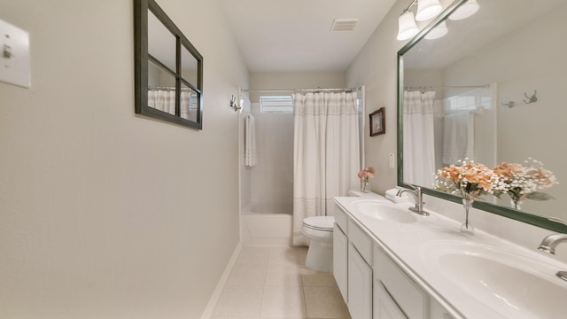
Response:
M358 188L356 93L293 94L293 245L307 245L303 219L327 215L334 196Z

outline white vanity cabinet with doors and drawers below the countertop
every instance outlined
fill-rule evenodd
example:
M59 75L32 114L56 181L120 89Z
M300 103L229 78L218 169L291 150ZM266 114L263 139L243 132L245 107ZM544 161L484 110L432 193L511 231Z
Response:
M353 319L454 319L350 214L334 216L333 275Z

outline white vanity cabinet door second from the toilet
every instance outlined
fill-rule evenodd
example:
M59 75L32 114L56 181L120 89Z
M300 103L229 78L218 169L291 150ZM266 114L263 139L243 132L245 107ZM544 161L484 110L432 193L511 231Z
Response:
M348 245L348 310L353 319L372 319L372 268Z

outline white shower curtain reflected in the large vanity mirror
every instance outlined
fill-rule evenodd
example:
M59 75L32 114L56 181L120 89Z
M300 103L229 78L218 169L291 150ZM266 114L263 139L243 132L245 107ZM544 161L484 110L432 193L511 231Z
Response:
M431 187L435 183L433 103L435 92L404 92L404 182Z

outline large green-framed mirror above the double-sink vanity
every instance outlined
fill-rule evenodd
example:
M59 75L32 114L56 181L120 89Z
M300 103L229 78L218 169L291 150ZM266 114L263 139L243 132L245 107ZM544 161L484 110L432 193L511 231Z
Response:
M398 184L460 202L434 190L440 167L465 157L486 167L538 159L559 182L544 190L553 199L516 209L504 195L475 206L567 232L559 221L567 221L567 2L478 0L474 15L452 19L464 3L455 0L399 51Z

